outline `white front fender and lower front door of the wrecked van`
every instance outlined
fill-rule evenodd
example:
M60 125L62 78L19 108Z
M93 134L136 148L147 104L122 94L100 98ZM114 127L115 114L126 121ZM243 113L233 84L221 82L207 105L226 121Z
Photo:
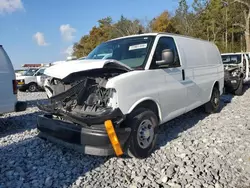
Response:
M138 101L154 101L163 123L185 112L185 90L178 77L164 69L132 71L110 79L106 88L116 90L117 107L124 114L129 114Z

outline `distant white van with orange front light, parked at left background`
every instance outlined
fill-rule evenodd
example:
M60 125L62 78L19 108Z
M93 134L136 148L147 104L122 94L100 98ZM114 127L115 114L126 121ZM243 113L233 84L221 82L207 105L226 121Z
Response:
M18 88L20 91L30 91L35 92L37 90L43 90L43 84L45 78L47 76L44 74L44 70L46 67L42 68L29 68L27 69L22 76L18 76L17 82L18 82Z

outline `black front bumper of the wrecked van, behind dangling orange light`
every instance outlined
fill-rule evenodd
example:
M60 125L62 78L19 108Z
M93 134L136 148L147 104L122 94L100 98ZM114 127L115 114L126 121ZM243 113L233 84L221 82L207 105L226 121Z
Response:
M38 116L39 137L64 145L89 155L113 155L114 150L104 124L91 127L75 125L53 118L52 115ZM123 148L130 135L130 128L115 128Z

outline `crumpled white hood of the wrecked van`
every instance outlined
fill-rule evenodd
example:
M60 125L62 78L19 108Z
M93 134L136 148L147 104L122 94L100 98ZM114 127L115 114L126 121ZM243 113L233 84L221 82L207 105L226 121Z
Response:
M50 77L63 79L72 73L87 71L92 69L102 69L105 68L105 66L107 65L111 65L112 68L122 69L126 71L133 70L129 66L116 60L84 59L84 60L66 61L63 63L53 65L45 69L44 74Z

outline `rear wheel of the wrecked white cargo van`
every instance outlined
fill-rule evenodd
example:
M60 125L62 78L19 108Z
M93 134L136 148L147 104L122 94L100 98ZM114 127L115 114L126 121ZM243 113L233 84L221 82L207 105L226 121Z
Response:
M220 91L217 87L213 88L210 100L205 104L205 112L208 114L218 112L220 108Z

